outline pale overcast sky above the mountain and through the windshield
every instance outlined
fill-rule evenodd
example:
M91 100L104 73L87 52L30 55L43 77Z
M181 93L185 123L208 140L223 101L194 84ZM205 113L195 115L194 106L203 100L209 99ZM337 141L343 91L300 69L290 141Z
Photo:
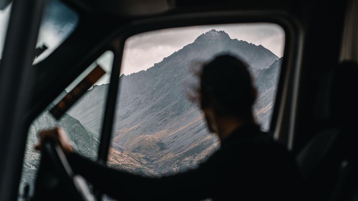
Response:
M57 48L67 38L68 34L76 28L78 23L78 17L71 9L57 0L50 2L47 5L47 9L45 9L37 43L38 45L44 43L49 49L40 55L35 60L35 63L47 57L48 54ZM10 10L10 6L0 10L0 55L3 52ZM168 57L175 51L182 49L185 45L193 43L199 35L212 29L217 31L223 30L232 39L245 40L255 45L261 44L278 57L283 56L285 33L276 24L247 23L190 26L150 31L127 39L121 74L128 75L140 70L146 70L152 67L154 63L159 63L164 57ZM112 58L113 55L107 53L97 60L97 63L107 71L107 74L96 84L109 83Z

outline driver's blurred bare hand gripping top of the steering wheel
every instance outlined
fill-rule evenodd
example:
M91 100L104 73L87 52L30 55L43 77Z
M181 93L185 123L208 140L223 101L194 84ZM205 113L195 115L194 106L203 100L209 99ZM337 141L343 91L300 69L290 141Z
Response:
M71 142L69 141L66 132L61 127L56 127L51 130L44 130L39 133L40 143L35 145L35 149L41 150L43 139L45 137L52 137L57 140L65 153L71 153L74 151Z

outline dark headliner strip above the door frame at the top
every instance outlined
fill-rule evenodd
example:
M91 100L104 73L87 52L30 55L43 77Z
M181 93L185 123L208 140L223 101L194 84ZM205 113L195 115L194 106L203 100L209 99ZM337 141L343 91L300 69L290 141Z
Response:
M105 14L119 18L143 18L154 15L188 13L200 11L219 11L219 10L286 10L290 9L292 1L175 1L175 0L134 0L134 1L84 1L66 0L68 4L76 6L89 14Z

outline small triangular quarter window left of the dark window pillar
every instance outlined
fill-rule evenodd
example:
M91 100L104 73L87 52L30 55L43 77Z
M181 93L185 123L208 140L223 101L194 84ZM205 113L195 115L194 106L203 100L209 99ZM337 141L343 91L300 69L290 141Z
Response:
M105 111L104 106L108 89L108 85L103 85L103 83L109 82L112 62L113 53L110 51L103 53L100 58L79 75L79 77L32 122L26 141L21 186L26 184L30 186L30 189L33 189L40 163L40 152L34 149L34 145L39 142L38 133L43 129L52 129L56 126L62 127L78 153L91 158L92 160L97 160L101 124L103 121ZM97 64L106 71L106 74L87 90L87 92L61 117L61 119L57 121L52 114L49 113L49 110L71 91L74 86L81 82L81 80L86 77ZM84 104L88 98L93 98L93 93L96 93L96 98L92 100L92 105ZM100 107L94 107L93 104ZM92 108L96 109L94 110ZM81 111L84 109L87 110L87 117L81 116ZM93 119L95 119L95 121L92 121ZM94 127L94 125L98 126Z

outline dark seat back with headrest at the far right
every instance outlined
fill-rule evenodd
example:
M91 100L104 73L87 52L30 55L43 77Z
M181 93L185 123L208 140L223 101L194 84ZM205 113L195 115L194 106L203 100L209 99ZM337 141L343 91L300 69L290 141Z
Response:
M354 62L343 62L334 69L330 120L297 155L297 165L313 200L349 200L356 189L351 177L357 174L357 76Z

